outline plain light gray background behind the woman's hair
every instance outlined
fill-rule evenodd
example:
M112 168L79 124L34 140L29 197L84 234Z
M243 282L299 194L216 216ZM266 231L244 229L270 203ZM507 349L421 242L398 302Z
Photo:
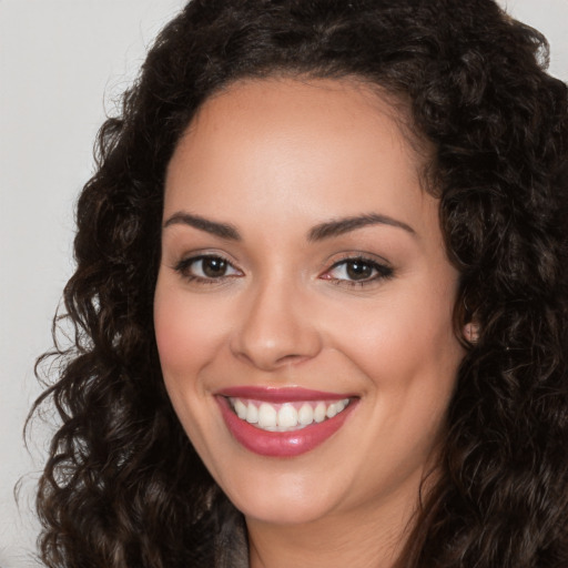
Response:
M464 0L468 1L468 0ZM568 0L503 1L542 31L568 80ZM72 272L73 206L95 132L184 0L0 0L0 567L36 566L30 511L49 427L29 450L34 358ZM21 478L20 507L13 498Z

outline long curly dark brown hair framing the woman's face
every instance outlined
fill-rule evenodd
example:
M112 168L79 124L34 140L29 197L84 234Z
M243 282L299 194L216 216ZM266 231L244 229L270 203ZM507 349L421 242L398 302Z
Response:
M163 386L152 304L164 173L212 93L278 73L356 77L409 106L480 334L436 487L402 565L568 565L568 97L545 38L493 0L192 0L103 124L64 290L75 339L40 399L61 426L39 485L51 568L211 566L234 516Z

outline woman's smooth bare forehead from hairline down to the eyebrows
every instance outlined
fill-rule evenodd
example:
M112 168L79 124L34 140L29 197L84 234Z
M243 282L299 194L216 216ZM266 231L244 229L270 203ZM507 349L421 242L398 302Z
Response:
M165 213L264 207L276 220L283 211L335 217L381 209L422 223L424 158L403 119L361 81L237 82L203 104L180 141Z

